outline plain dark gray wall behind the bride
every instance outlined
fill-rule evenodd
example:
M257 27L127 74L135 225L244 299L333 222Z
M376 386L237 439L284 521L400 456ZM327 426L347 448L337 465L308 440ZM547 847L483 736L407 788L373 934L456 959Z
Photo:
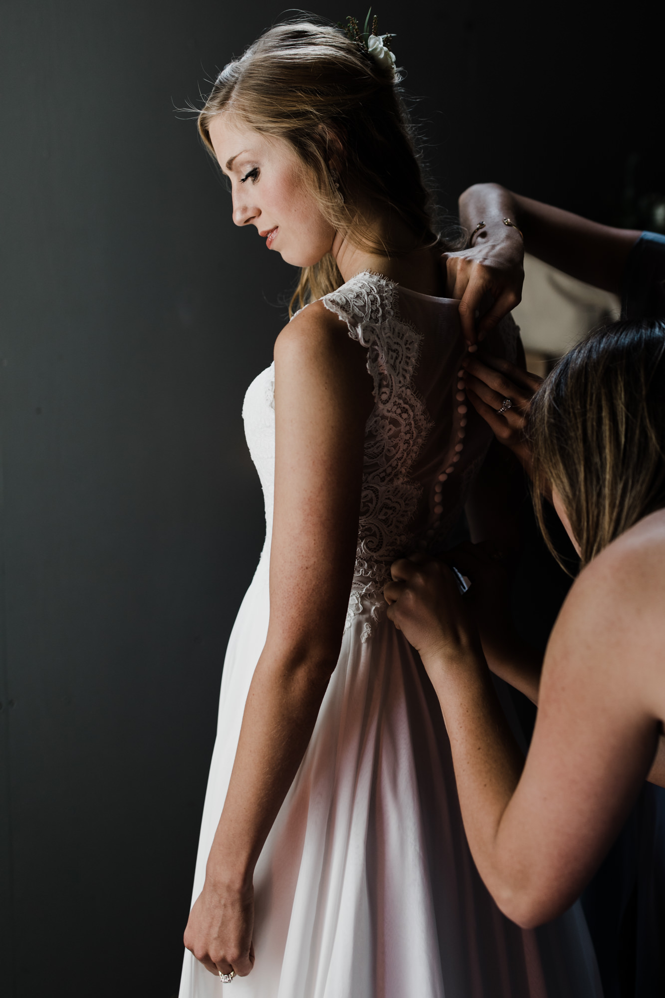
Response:
M560 5L553 23L531 4L400 7L381 7L380 27L397 34L411 92L428 95L417 116L432 120L448 207L495 179L609 220L631 152L652 184L644 127L657 115L633 73L650 65L652 27ZM225 645L263 540L241 407L293 272L234 230L174 106L279 13L210 0L1 8L11 998L177 991Z

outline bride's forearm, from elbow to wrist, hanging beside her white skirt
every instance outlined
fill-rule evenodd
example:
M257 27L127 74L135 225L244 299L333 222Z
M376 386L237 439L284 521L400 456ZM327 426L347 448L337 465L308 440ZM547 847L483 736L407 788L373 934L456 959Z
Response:
M308 748L334 659L305 654L294 664L267 645L243 716L227 798L208 860L209 878L242 888Z

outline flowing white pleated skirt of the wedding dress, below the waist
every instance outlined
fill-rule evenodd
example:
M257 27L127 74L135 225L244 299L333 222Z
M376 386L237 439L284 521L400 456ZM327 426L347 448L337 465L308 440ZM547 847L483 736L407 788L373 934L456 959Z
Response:
M224 666L193 902L266 640L269 558ZM370 625L369 628L366 625ZM505 918L471 859L440 709L383 617L353 618L310 747L255 875L256 964L223 985L186 951L180 998L601 998L579 905Z

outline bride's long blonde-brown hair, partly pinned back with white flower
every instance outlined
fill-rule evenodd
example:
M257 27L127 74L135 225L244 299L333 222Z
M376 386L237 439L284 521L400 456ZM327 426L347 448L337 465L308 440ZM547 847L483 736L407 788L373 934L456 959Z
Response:
M393 254L436 246L433 205L399 77L384 63L338 28L304 21L277 25L220 73L199 115L199 131L214 155L209 128L224 111L289 142L325 218L355 246ZM339 166L332 171L333 158ZM412 245L376 245L362 215L367 207L398 216L413 234ZM327 254L303 268L294 301L306 304L341 283Z

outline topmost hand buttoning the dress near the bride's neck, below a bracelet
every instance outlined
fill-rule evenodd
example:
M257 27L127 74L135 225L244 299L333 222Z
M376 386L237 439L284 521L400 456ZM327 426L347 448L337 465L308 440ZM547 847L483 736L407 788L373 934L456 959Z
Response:
M501 243L478 241L445 254L450 297L459 298L459 320L469 344L485 338L522 297L524 245L514 230ZM486 309L486 310L485 310ZM482 312L476 327L476 312Z

